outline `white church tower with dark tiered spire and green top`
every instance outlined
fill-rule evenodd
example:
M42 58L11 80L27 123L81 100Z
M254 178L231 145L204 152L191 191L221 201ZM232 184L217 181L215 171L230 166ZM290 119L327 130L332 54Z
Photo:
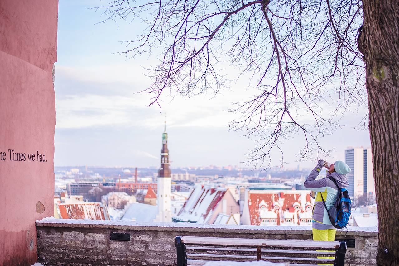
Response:
M166 133L166 121L164 133L162 134L161 167L158 171L158 222L172 222L170 211L170 193L172 178L169 168L168 133Z

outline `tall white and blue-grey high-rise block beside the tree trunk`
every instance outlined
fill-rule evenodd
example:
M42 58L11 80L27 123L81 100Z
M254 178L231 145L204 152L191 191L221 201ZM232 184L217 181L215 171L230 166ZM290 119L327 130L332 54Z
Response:
M348 191L352 199L361 195L375 196L373 160L371 148L348 148L345 150L345 163L352 170L347 174Z

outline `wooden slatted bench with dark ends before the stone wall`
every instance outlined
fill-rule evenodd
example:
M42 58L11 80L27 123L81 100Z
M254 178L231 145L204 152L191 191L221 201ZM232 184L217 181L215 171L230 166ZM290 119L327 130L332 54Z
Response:
M233 260L344 266L346 242L176 236L177 266Z

